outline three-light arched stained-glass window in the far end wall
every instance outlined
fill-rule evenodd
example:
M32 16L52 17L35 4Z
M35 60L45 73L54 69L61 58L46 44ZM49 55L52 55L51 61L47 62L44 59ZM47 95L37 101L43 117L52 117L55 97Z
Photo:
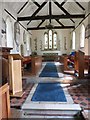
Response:
M48 33L44 33L45 37L45 50L56 50L57 49L57 33L49 30Z

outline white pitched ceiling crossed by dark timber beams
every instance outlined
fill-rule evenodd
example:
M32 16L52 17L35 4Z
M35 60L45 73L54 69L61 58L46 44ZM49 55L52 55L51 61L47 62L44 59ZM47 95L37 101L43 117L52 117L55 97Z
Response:
M88 13L88 2L70 0L28 0L10 2L17 20L28 30L74 28Z

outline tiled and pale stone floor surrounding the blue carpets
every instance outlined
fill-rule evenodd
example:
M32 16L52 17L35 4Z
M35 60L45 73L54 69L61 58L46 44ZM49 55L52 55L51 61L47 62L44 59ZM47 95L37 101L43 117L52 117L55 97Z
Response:
M44 68L45 64L46 63L43 64L42 69ZM39 82L60 82L62 84L68 84L68 86L65 87L68 89L68 92L74 103L80 104L82 110L90 110L89 80L80 80L72 75L64 74L63 65L59 63L56 63L56 65L59 78L38 77L42 69L37 74L37 76L32 76L29 72L25 72L23 76L23 90L25 91L25 94L22 98L11 98L11 107L20 109L34 84Z

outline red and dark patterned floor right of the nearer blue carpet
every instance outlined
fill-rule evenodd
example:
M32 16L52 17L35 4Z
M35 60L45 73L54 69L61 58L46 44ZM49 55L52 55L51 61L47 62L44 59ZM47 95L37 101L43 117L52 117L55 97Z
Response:
M68 88L75 103L80 104L82 109L90 110L90 85L78 84Z

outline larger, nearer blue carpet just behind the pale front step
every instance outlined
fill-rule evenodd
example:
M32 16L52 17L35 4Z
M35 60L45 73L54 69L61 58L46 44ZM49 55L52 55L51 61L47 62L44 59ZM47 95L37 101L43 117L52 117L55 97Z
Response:
M66 102L60 83L39 83L31 101Z

